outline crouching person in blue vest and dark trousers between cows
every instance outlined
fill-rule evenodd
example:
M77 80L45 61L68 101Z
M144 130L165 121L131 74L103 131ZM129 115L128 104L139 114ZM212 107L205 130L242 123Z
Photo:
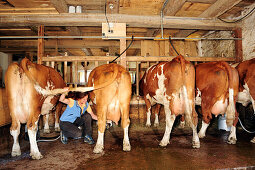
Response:
M79 139L84 137L84 142L94 144L92 138L92 119L97 120L88 103L88 93L77 93L77 100L60 96L59 101L67 104L66 110L60 117L61 141L67 144L68 138ZM80 129L79 127L82 127Z

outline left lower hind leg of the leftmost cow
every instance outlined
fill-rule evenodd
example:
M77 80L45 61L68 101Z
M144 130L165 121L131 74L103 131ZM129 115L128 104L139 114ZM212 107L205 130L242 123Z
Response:
M12 156L21 155L20 145L19 145L19 134L20 134L20 122L12 122L10 134L13 136L13 146L12 146Z

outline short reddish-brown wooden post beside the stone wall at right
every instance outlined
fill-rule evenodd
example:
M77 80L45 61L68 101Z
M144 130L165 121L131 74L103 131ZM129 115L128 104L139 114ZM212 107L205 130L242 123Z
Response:
M235 38L242 38L242 29L237 28L234 30ZM242 40L235 40L235 47L236 47L236 62L243 61L243 47L242 47Z

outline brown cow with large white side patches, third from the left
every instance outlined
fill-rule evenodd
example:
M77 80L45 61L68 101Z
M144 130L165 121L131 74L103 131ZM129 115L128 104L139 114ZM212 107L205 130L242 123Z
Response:
M186 123L193 130L193 148L199 148L197 134L197 113L195 111L195 69L183 56L170 62L153 65L145 72L141 83L147 115L151 105L159 103L164 106L166 129L160 146L166 146L177 115L184 115Z

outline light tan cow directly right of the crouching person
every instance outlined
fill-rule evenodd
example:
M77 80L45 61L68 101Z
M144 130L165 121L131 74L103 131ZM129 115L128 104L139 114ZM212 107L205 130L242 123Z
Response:
M124 128L123 150L130 151L128 127L131 77L129 72L115 63L101 65L90 73L88 86L97 89L90 93L91 100L96 104L98 117L98 138L93 152L103 152L106 120L112 120L117 124L120 117Z

